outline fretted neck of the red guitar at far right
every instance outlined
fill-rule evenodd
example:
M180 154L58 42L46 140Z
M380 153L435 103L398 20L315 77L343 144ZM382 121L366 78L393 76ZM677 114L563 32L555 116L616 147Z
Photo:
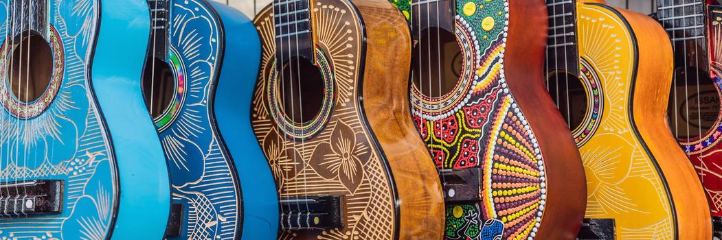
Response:
M709 71L707 6L705 0L657 1L657 20L674 44L675 68Z

